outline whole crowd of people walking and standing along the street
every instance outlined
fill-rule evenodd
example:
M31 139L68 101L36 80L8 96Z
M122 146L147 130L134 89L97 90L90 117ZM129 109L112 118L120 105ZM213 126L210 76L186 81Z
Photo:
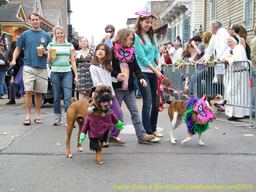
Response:
M38 13L32 13L29 18L32 29L23 32L18 41L12 42L8 49L6 34L0 39L0 99L7 99L4 94L8 92L6 104L15 104L15 99L25 95L26 119L23 124L31 124L32 93L35 94L36 115L34 122L43 123L39 118L41 94L48 90L49 79L52 82L54 94L54 118L53 125L62 124L63 117L60 100L64 95L64 119L66 112L71 105L71 97L74 97L74 90L77 91L77 99L90 100L89 93L93 86L100 84L108 85L112 91L112 105L116 117L123 122L122 101L131 112L131 119L134 125L138 142L159 142L163 137L156 130L158 110L156 101L160 105L160 97L157 97L157 87L160 77L163 76L163 66L179 64L176 70L185 70L187 64L201 65L197 71L197 82L199 89L197 95L203 96L219 94L219 84L213 84L216 74L214 66L221 62L227 68L223 83L225 95L228 102L235 97L241 100L243 105L244 97L247 95L234 95L232 89L235 86L242 91L246 86L231 84L232 79L244 79L245 85L249 86L249 68L243 63L236 63L236 60L252 60L252 66L256 67L256 36L252 40L251 49L246 40L246 30L243 26L232 24L227 31L222 27L219 20L210 22L211 31L206 31L202 36L196 35L185 42L182 46L180 36L177 41L164 43L158 49L156 37L152 28L152 22L156 17L148 11L135 13L138 19L134 32L130 29L119 29L115 35L113 25L105 27L106 35L93 49L89 47L88 40L81 38L77 43L75 34L69 34L71 43L67 42L67 34L64 28L54 28L53 39L40 28L41 17ZM256 26L254 28L256 35ZM15 65L15 68L8 72L7 69ZM241 68L242 66L242 68ZM21 69L21 70L19 70ZM205 75L207 74L207 76ZM36 75L36 76L35 76ZM181 80L183 81L181 74ZM255 78L256 73L253 71ZM41 77L44 77L42 79ZM193 95L195 92L194 79L184 79L184 91ZM19 81L19 83L15 83ZM167 79L167 81L169 81ZM169 82L163 80L163 95L167 100L172 100L168 86ZM172 83L172 82L171 82ZM61 85L68 88L62 88ZM7 91L7 88L9 88ZM72 92L73 89L73 92ZM64 94L63 94L64 93ZM239 93L236 93L239 94ZM140 118L136 99L142 98L142 116ZM166 106L161 104L163 108ZM255 95L254 95L255 108ZM244 117L250 114L248 108L228 106L225 110L228 120ZM255 114L254 114L255 115ZM66 124L67 126L67 124ZM120 130L111 125L108 135L110 142L124 144L125 141L119 137ZM108 143L104 143L107 147Z

